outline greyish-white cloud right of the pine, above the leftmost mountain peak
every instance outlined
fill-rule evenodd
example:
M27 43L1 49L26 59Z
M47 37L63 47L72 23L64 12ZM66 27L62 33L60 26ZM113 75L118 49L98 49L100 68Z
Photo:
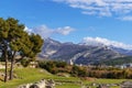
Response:
M64 26L64 28L57 28L57 29L50 29L46 25L40 25L33 29L29 29L28 26L25 26L26 32L40 34L42 37L50 37L51 35L54 35L54 34L68 35L74 30L75 29L70 26Z

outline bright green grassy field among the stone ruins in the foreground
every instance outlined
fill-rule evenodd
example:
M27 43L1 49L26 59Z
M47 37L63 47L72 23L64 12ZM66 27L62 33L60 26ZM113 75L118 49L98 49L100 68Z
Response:
M118 84L125 80L125 79L96 79L91 81L88 81L88 80L86 81L75 77L58 77L40 68L16 68L14 73L16 74L18 78L13 80L9 80L6 84L3 81L0 81L0 88L16 88L19 85L35 82L41 79L54 79L56 81L82 81L84 85L89 85L92 82ZM66 84L56 86L56 88L81 88L81 86L79 84L66 82ZM95 88L95 87L91 87L91 88ZM111 88L120 88L120 87L111 87Z

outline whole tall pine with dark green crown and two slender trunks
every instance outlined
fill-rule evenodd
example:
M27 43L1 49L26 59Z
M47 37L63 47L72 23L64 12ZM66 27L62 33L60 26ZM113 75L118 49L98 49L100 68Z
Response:
M34 58L43 45L43 40L38 34L29 34L24 31L24 25L19 20L0 18L0 50L6 62L6 77L8 80L8 61L11 62L10 79L13 79L13 65L23 58ZM19 59L15 56L20 55Z

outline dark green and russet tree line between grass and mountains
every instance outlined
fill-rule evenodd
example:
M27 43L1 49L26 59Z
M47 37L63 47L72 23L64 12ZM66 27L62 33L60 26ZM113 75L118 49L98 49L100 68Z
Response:
M41 68L48 70L52 74L68 73L75 77L95 77L95 78L116 78L116 79L131 79L132 68L119 69L114 67L88 67L68 65L65 62L40 62Z

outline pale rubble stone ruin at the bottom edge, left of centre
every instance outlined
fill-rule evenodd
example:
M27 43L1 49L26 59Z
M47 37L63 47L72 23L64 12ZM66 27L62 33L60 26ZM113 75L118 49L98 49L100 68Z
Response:
M55 88L55 81L53 79L42 79L34 84L21 85L18 88Z

